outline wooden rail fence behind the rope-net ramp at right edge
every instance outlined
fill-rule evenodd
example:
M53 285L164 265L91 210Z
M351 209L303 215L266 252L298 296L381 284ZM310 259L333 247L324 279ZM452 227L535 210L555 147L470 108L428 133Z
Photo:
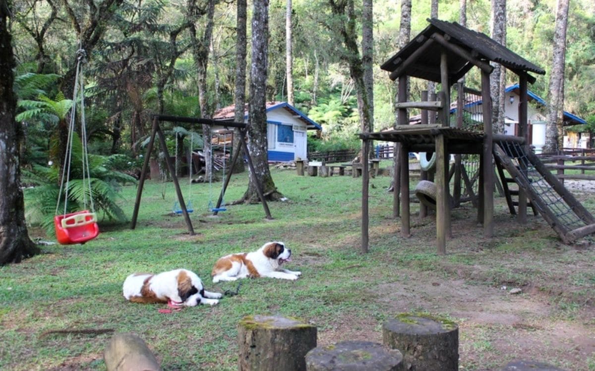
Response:
M557 153L541 153L537 155L547 169L556 170L558 179L595 180L595 149L564 148ZM580 170L568 173L565 170Z

